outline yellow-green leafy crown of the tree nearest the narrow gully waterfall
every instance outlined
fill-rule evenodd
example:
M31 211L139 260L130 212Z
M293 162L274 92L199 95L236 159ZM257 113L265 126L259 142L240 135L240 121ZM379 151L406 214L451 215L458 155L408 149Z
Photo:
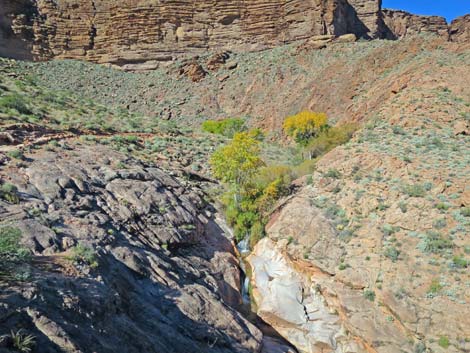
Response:
M226 183L244 185L264 165L259 144L252 133L236 133L230 144L211 157L215 177Z

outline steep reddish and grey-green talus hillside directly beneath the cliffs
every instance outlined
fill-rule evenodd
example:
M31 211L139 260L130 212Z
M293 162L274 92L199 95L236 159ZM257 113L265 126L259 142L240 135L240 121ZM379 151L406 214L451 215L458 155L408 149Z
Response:
M199 125L208 118L246 116L255 126L280 131L286 116L324 111L338 121L367 121L397 94L428 87L464 97L468 50L435 36L402 41L288 45L261 53L228 53L199 59L197 83L179 62L145 73L127 73L76 61L25 64L41 84L71 90L101 104ZM281 104L280 104L281 102Z

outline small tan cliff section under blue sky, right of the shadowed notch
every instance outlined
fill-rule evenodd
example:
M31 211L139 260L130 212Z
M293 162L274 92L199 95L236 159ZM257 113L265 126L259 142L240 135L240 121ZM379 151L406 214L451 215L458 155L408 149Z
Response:
M406 11L382 10L389 39L399 39L419 33L433 33L447 37L449 28L440 16L419 16Z

